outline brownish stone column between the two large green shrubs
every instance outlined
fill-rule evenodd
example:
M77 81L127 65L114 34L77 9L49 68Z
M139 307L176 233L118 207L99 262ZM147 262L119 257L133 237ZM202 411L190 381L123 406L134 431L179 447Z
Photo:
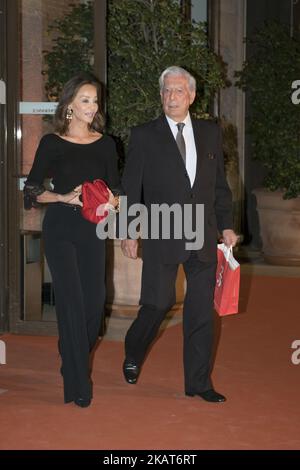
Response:
M227 64L227 77L231 81L231 86L221 90L215 100L214 113L224 120L231 151L237 140L237 161L230 162L227 176L233 193L235 229L240 232L244 211L245 97L234 86L234 72L242 68L245 60L247 0L211 0L209 5L211 45Z

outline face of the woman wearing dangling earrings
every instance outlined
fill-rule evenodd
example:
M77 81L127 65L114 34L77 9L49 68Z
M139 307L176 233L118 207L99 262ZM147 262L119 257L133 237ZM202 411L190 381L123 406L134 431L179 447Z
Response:
M94 85L82 85L68 108L73 110L72 122L91 124L98 110L97 89Z

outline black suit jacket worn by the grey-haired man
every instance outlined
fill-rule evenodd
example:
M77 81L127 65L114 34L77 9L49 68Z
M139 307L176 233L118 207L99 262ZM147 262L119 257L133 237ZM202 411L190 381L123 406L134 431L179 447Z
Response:
M224 174L220 127L192 119L197 151L193 186L164 115L132 129L122 186L131 204L204 204L204 245L200 260L216 259L217 230L232 228L232 200ZM150 222L151 223L151 222ZM143 258L158 257L162 263L182 263L190 255L181 239L143 240Z

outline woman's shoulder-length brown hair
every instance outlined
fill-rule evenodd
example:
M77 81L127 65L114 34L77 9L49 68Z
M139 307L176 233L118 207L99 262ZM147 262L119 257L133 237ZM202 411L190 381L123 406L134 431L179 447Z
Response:
M69 121L66 119L69 104L77 95L79 89L83 85L93 85L97 90L98 110L91 124L88 125L89 130L102 132L104 127L104 116L100 110L101 106L101 83L92 74L82 72L72 77L63 87L60 100L56 108L54 116L54 129L59 135L66 135L69 128Z

